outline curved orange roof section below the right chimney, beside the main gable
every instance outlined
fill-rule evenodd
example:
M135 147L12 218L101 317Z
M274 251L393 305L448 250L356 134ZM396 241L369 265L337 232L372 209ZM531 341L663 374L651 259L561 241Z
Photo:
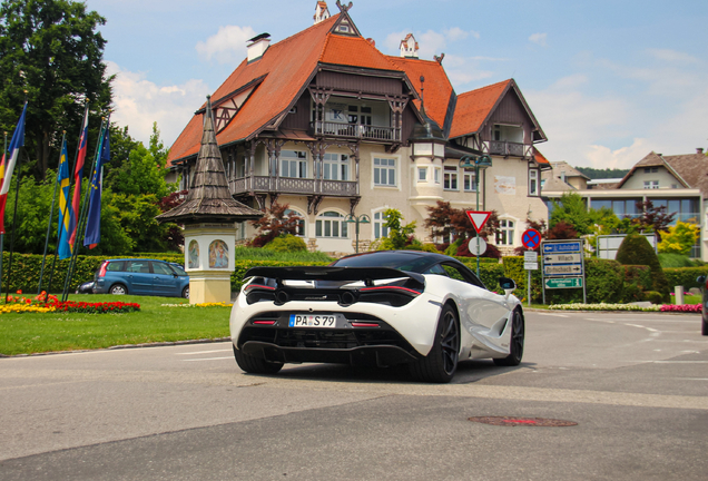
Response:
M413 85L415 91L421 94L421 76L425 78L425 114L435 120L440 128L444 128L448 104L453 94L452 84L442 65L433 60L420 60L404 57L389 57L389 60L403 70ZM414 100L415 107L421 108L421 101Z

